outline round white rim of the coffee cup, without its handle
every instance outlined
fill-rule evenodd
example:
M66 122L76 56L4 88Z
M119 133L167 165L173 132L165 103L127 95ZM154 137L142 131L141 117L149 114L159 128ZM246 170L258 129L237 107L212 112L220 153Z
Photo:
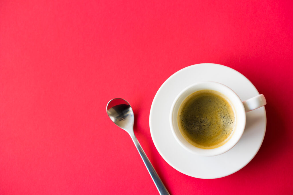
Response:
M234 97L236 98L237 100L237 106L238 106L238 109L236 111L236 109L234 108L234 112L235 114L239 114L239 113L242 113L242 115L240 116L241 120L240 121L240 124L239 124L239 121L236 122L236 125L234 127L234 132L236 131L236 129L238 129L237 131L237 135L232 135L232 137L234 137L234 139L232 139L230 141L230 139L225 143L223 144L222 146L219 146L217 148L214 148L214 149L201 149L201 148L197 148L196 146L193 146L192 144L190 143L186 143L186 139L185 139L185 143L183 143L177 136L176 132L175 132L175 129L174 129L174 120L173 120L173 115L174 115L174 108L175 106L177 105L177 102L178 102L178 99L180 99L180 97L186 92L188 91L189 89L193 88L193 87L196 87L198 85L203 85L203 84L213 84L213 85L218 85L218 86L222 86L224 87L226 90L228 90L230 93L234 94ZM194 92L197 92L197 91L200 91L202 89L199 89L199 90L195 90L193 91L192 93ZM212 89L212 90L215 90L215 89ZM215 91L218 92L218 90L216 89ZM219 92L221 93L221 92ZM190 95L191 93L189 93L188 95ZM183 100L188 96L186 95ZM224 94L226 96L226 94ZM232 101L230 100L229 97L226 96L226 98L229 99L229 101L232 103ZM235 103L235 101L233 101ZM182 103L182 102L181 102ZM180 103L180 105L181 105ZM233 104L233 107L234 107L234 104ZM176 115L178 114L178 112L176 112ZM194 154L197 154L197 155L200 155L200 156L217 156L217 155L220 155L222 153L225 153L227 151L229 151L230 149L232 149L237 143L238 141L240 140L243 132L244 132L244 129L245 129L245 124L246 124L246 113L245 113L245 109L244 109L244 106L243 106L243 103L240 99L240 97L231 89L229 88L228 86L222 84L222 83L219 83L219 82L214 82L214 81L202 81L202 82L197 82L197 83L194 83L194 84L191 84L189 85L188 87L185 87L177 96L176 98L174 99L173 103L172 103L172 106L171 106L171 110L170 110L170 115L169 115L169 121L170 121L170 126L171 126L171 131L172 131L172 134L173 136L175 137L176 141L184 148L186 149L187 151L191 152L191 153L194 153ZM176 117L177 118L177 117ZM238 119L238 118L237 118ZM240 120L240 119L239 119ZM177 122L175 122L177 124ZM178 125L178 124L177 124ZM241 128L242 127L242 128ZM240 129L241 128L241 129ZM239 130L240 129L240 130ZM179 131L179 130L178 130ZM233 132L233 134L234 134ZM182 136L181 132L179 131L180 135ZM236 137L235 137L236 136ZM182 136L183 137L183 136ZM231 137L231 138L232 138ZM181 138L182 139L182 138ZM229 143L229 145L228 145Z

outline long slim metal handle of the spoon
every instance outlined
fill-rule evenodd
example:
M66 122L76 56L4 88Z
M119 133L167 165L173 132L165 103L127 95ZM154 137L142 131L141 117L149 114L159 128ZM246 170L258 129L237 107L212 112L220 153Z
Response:
M144 150L142 149L142 146L139 144L137 138L135 135L130 135L132 138L132 141L134 142L140 156L142 157L142 160L144 161L144 165L146 165L147 170L149 171L149 174L151 175L151 178L153 179L157 189L159 190L159 193L161 195L170 195L167 191L166 187L164 186L162 180L160 179L159 175L157 174L156 170L154 169L153 165L151 165L151 162L149 161L149 158L147 158L147 155L144 153Z

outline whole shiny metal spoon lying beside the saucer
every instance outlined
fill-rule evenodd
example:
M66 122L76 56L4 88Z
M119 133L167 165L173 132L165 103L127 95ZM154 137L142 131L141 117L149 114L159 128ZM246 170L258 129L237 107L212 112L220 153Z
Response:
M157 189L160 194L169 194L163 182L161 181L159 175L155 171L153 165L147 158L147 155L144 153L142 146L140 146L137 138L133 132L133 124L134 124L134 115L130 104L121 98L115 98L108 102L107 104L107 114L110 119L120 128L124 129L132 138L134 145L136 146L144 164L151 175Z

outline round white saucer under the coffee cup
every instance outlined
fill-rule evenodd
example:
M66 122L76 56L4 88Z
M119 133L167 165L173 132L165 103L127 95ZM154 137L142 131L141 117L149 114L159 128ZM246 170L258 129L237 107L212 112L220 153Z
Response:
M215 81L230 87L242 101L258 95L241 73L219 64L197 64L179 70L160 87L151 105L151 137L163 159L191 177L213 179L230 175L247 165L258 152L266 128L265 108L246 113L246 128L239 142L228 152L202 157L183 149L173 137L169 124L171 105L185 87L200 81Z

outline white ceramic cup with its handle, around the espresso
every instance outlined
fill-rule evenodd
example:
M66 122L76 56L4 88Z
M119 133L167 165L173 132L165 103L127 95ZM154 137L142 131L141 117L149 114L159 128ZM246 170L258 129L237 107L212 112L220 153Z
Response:
M190 94L203 89L214 90L226 96L226 98L232 104L231 106L234 109L235 114L236 125L234 127L230 139L222 146L219 146L214 149L201 149L190 144L181 134L177 122L178 111L185 98L188 97ZM183 91L180 92L174 100L170 112L171 130L175 139L184 149L200 156L216 156L230 150L240 140L246 124L245 113L265 105L266 100L263 94L260 94L258 96L255 96L251 99L242 102L239 96L232 89L230 89L224 84L210 81L195 83L183 89Z

